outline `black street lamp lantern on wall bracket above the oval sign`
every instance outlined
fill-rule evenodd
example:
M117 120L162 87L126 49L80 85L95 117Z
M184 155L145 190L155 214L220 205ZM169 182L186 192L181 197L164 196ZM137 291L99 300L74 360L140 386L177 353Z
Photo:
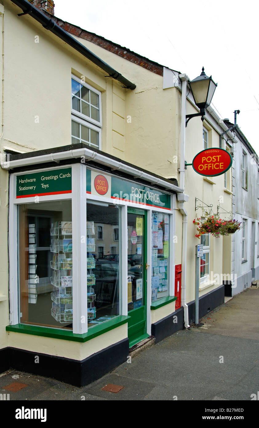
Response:
M212 77L206 76L204 73L204 67L202 68L202 72L200 76L196 77L196 79L191 80L189 82L189 86L191 88L191 93L194 98L194 102L199 107L200 113L187 114L185 127L187 126L189 120L195 116L201 116L201 120L204 120L205 109L209 107L211 103L212 97L214 95L216 86L218 83L215 83L212 80Z

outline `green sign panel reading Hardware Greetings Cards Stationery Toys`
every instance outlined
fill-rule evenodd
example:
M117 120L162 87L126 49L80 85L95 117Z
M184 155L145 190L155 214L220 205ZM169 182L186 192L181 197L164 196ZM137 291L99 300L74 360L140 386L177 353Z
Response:
M72 192L71 168L17 175L16 198Z

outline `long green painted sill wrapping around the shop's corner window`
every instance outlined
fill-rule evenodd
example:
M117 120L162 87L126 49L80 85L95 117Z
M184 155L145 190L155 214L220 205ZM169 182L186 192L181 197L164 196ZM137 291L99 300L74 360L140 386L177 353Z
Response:
M16 333L33 334L34 336L45 336L53 339L64 339L72 340L73 342L87 342L88 340L94 339L94 337L100 336L107 331L113 330L114 328L120 327L126 324L129 320L129 316L121 315L112 320L105 321L103 324L96 325L89 328L87 333L74 334L69 330L61 330L57 328L41 327L36 325L27 324L15 324L6 326L6 331L15 331Z

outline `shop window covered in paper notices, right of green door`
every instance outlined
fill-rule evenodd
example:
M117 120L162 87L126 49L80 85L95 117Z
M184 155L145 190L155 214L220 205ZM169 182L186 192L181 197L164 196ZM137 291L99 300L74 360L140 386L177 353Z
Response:
M152 302L169 295L169 219L152 213Z

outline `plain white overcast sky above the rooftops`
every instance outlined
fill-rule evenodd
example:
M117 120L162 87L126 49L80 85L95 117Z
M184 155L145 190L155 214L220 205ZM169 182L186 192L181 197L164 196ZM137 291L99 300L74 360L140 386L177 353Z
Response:
M259 154L258 1L54 3L58 18L186 73L191 80L204 66L205 73L218 83L213 107L230 122L234 122L234 110L240 110L237 123Z

